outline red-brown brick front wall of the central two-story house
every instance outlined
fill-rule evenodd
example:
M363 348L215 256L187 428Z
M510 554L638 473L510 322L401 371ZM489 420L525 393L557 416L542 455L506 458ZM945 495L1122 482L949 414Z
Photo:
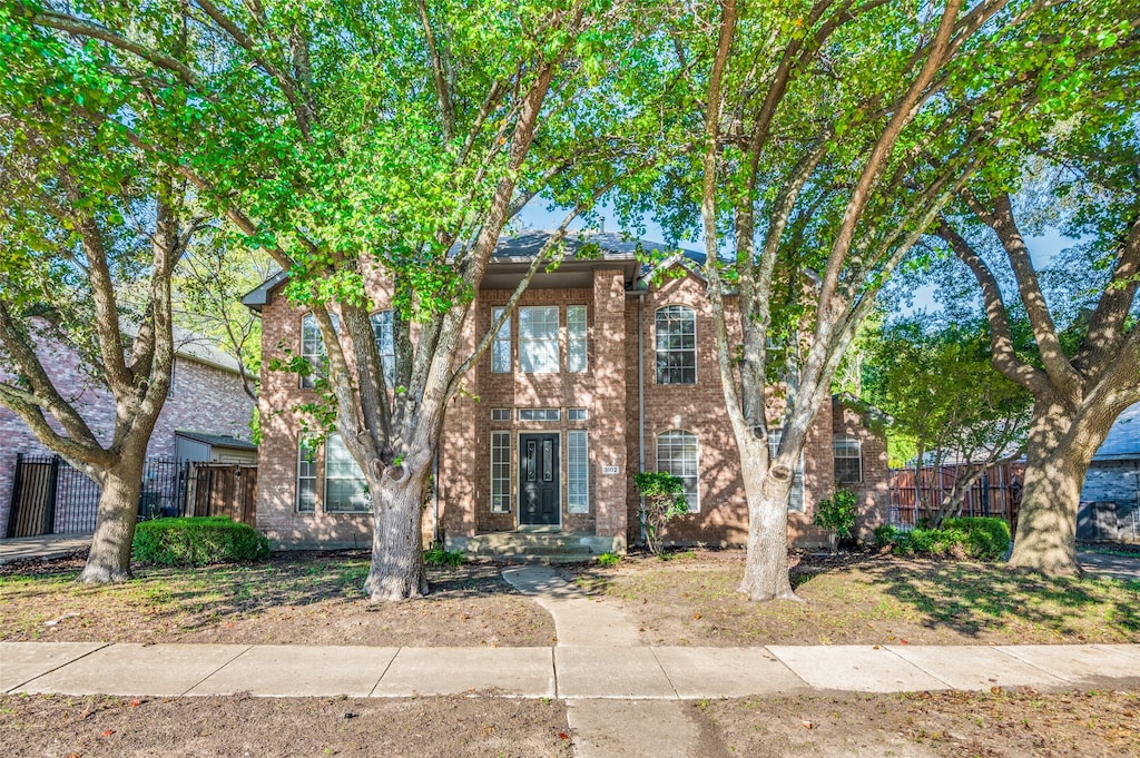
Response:
M586 270L584 275L583 271ZM492 351L480 359L464 380L464 392L448 408L440 446L437 498L429 507L424 533L443 537L462 546L486 532L511 531L520 527L520 434L557 435L560 513L557 523L544 528L596 538L604 549L625 549L640 540L638 498L633 473L642 465L657 467L657 445L670 430L697 435L699 454L699 510L669 525L668 538L676 543L742 545L747 538L748 513L740 478L740 462L732 427L724 407L719 372L711 347L711 308L705 285L693 276L666 278L659 286L638 290L633 282L636 267L606 259L588 269L579 266L567 274L568 286L557 286L557 276L547 276L521 298L520 308L553 307L559 317L557 373L520 370L519 311L511 318L511 372L494 373ZM370 283L373 300L388 301L382 282ZM461 354L470 354L478 337L492 323L494 309L507 302L510 290L486 288L469 313ZM587 367L568 370L568 308L586 308ZM684 305L695 312L697 381L694 384L658 384L654 372L656 313L667 305ZM264 440L259 472L258 525L280 546L351 546L367 544L372 516L368 513L328 513L321 507L323 462L315 457L317 504L311 513L298 510L298 462L300 423L291 409L312 399L300 388L295 374L270 372L274 357L294 353L300 344L303 312L271 293L261 305L263 318L263 366L261 417ZM640 329L638 329L640 326ZM640 333L640 334L638 334ZM638 370L638 344L641 370ZM638 381L641 377L641 384ZM644 414L640 414L638 386ZM557 409L557 421L521 421L519 409ZM503 418L492 418L492 410ZM584 419L569 417L570 409L584 409ZM841 413L840 413L841 411ZM833 416L838 414L838 416ZM789 537L799 544L825 543L825 533L811 525L814 505L834 488L832 439L839 430L863 440L865 482L861 483L861 535L886 517L887 468L885 443L858 423L849 411L825 404L808 433L804 459L804 508L789 516ZM568 441L570 432L587 434L586 513L568 508ZM506 432L511 447L510 510L491 507L491 439ZM643 443L642 443L643 433Z

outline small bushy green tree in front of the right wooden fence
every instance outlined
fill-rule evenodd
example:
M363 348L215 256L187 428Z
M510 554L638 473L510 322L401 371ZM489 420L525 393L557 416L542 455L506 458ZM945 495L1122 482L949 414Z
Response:
M933 510L931 527L938 527L960 515L986 468L1020 456L1031 398L994 370L984 324L937 327L929 320L883 327L868 361L866 388L868 399L890 414L893 432L913 442L919 505ZM922 475L928 466L940 471L947 459L959 472L933 506L922 500Z

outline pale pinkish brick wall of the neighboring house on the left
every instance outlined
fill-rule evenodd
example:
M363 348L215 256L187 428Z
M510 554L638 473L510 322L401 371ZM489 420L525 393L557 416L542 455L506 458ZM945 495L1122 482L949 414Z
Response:
M107 388L81 367L79 357L71 350L42 343L40 358L60 394L74 399L76 410L106 443L114 429L115 414L114 397ZM179 429L247 440L252 415L253 400L242 389L242 380L235 370L177 356L174 383L155 424L147 457L173 458L174 430ZM0 441L3 448L0 450L0 533L5 533L11 507L16 454L41 456L51 455L51 451L40 443L19 416L2 406Z

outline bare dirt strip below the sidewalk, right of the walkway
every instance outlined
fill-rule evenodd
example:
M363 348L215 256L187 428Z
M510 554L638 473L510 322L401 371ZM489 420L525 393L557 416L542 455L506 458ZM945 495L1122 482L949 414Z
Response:
M1116 758L1140 755L1134 692L804 695L693 704L712 755Z

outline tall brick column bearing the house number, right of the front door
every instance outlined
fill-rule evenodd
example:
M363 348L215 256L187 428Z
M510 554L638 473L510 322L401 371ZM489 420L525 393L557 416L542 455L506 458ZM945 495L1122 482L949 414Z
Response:
M597 514L596 533L612 537L625 549L626 481L634 471L626 459L626 291L620 269L594 271L593 359L595 401L589 439L594 487L591 498ZM603 473L616 466L618 473ZM634 463L636 467L636 463Z

